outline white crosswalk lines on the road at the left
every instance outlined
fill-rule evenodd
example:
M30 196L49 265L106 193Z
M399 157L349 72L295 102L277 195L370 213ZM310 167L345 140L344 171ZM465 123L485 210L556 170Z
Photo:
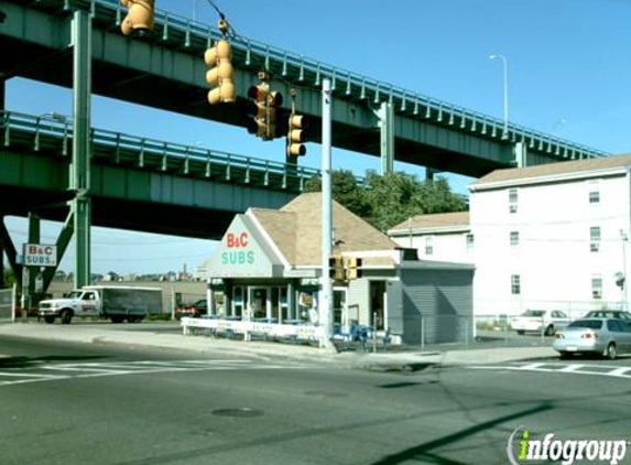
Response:
M62 379L95 378L101 376L159 374L173 371L280 369L286 366L260 364L250 360L174 360L174 361L112 361L85 364L42 364L36 367L0 370L0 387L26 382L57 381ZM293 367L300 368L300 367ZM36 371L36 372L33 372ZM45 371L54 371L55 375ZM6 378L4 380L2 378ZM7 379L9 378L9 379Z

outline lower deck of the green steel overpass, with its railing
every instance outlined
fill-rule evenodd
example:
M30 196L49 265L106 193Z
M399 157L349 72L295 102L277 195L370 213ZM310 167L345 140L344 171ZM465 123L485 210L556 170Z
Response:
M0 219L26 216L73 225L68 204L72 121L0 112ZM91 224L220 239L235 214L279 208L319 171L160 140L90 130ZM19 247L0 221L0 250L15 267Z

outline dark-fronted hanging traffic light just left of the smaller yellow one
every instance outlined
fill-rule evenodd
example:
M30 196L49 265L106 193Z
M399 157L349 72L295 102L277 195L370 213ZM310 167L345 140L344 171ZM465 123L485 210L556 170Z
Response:
M248 132L263 140L272 140L280 136L276 128L276 108L283 104L283 96L271 90L266 78L265 72L259 73L261 84L248 89L248 97L253 99L248 111L252 117Z

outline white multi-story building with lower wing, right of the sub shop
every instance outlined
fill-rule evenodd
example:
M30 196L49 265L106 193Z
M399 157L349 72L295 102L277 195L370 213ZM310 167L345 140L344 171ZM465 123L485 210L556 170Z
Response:
M469 190L468 230L428 226L437 215L407 224L426 225L412 226L421 258L429 244L433 260L475 263L477 315L627 305L631 155L498 170ZM391 236L409 247L405 227Z

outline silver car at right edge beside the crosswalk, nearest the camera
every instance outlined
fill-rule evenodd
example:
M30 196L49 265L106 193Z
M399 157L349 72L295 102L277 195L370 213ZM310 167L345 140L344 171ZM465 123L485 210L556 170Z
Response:
M631 324L618 318L580 318L556 333L552 348L562 358L592 353L613 360L631 352Z

